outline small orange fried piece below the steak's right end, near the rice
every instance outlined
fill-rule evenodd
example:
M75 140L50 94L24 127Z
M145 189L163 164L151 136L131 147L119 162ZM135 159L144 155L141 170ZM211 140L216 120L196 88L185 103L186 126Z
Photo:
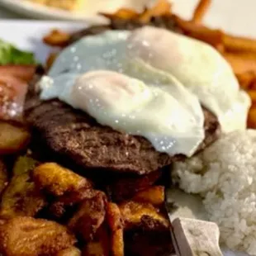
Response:
M147 202L154 206L160 206L164 203L164 187L148 187L138 192L135 197L132 198L132 201Z

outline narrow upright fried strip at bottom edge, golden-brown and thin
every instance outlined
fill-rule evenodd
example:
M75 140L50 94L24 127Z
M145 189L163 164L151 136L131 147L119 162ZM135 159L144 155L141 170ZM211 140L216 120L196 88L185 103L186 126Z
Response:
M119 207L115 203L107 204L107 223L111 230L111 255L124 256L123 220Z

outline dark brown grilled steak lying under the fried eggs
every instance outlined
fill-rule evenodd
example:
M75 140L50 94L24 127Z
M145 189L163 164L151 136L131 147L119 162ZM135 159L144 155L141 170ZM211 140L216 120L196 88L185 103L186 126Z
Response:
M206 139L199 149L216 140L219 123L204 110ZM148 140L101 126L92 116L58 100L40 102L37 96L26 102L26 121L40 140L65 159L83 168L105 168L118 173L151 173L183 159L157 152Z

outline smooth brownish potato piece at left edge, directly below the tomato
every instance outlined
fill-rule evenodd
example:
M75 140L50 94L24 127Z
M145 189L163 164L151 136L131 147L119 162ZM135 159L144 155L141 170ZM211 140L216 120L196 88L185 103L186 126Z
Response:
M29 139L26 129L0 121L0 154L12 154L24 149Z

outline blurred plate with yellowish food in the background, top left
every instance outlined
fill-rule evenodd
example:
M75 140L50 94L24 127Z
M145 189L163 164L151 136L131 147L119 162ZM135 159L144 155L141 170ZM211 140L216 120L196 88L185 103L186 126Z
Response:
M141 10L148 3L146 0L1 0L0 4L7 9L25 17L36 19L87 21L104 23L106 18L97 15L98 12L115 12L121 7L131 7Z

